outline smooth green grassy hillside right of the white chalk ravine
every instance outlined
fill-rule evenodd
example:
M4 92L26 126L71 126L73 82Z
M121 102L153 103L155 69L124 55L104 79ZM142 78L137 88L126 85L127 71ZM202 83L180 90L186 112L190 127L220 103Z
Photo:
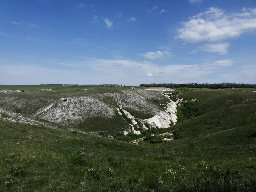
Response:
M250 125L256 122L256 93L234 90L196 90L179 98L198 99L189 119L160 132L179 130L180 138ZM178 116L179 117L179 116Z

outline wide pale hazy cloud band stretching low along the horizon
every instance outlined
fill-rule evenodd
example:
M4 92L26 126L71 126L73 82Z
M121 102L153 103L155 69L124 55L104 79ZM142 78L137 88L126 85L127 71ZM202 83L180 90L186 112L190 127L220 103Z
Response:
M51 61L50 68L35 64L36 61L12 63L0 60L0 84L41 84L41 83L68 83L68 84L125 84L138 85L152 82L238 82L253 83L256 80L256 67L237 65L236 74L226 69L234 61L230 59L209 61L198 64L154 64L148 61L134 61L129 59L96 59L74 57L68 61ZM20 61L21 62L21 61ZM254 63L252 63L254 64ZM73 68L71 68L73 67ZM227 68L228 69L228 68ZM152 73L153 72L153 73ZM145 75L152 74L150 78ZM236 75L236 76L235 76ZM172 79L170 80L170 76ZM97 78L95 78L97 77ZM238 78L234 79L233 78Z

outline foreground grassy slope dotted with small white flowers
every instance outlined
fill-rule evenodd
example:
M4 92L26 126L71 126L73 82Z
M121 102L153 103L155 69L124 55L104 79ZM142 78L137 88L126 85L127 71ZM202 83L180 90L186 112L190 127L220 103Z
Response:
M235 168L239 175L231 171L228 182L237 180L239 189L253 191L248 186L256 186L251 180L256 176L255 132L250 125L158 145L133 145L0 118L0 189L216 191L226 186L221 173ZM18 174L9 168L13 165ZM178 172L166 174L166 169Z

